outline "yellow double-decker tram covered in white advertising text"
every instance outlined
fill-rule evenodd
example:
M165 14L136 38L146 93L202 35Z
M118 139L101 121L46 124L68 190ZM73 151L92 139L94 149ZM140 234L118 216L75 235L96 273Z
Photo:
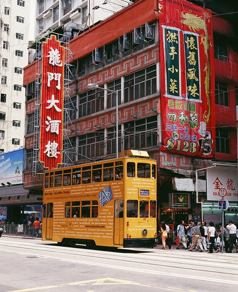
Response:
M46 171L43 210L43 240L153 247L156 161L128 150L117 159Z

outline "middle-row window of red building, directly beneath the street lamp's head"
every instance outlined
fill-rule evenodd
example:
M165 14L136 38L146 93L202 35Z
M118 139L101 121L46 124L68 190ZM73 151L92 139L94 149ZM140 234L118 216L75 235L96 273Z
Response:
M79 95L79 116L86 116L104 110L104 90L86 91Z

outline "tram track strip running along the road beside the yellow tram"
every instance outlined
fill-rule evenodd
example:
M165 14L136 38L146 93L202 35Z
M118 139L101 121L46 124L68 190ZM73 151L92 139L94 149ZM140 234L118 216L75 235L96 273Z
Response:
M207 261L207 257L204 257L202 256L202 258L200 257L200 259L195 259L192 255L191 256L176 256L174 254L171 254L171 255L168 255L168 254L161 254L161 253L151 253L151 254L147 254L147 256L145 255L142 255L140 254L140 257L138 257L137 260L135 260L135 258L132 259L132 256L128 256L123 250L123 255L120 255L119 252L116 252L115 255L114 254L110 254L110 256L108 256L108 254L102 254L97 252L97 250L89 250L89 249L84 249L84 251L90 251L90 254L89 253L83 253L83 252L80 252L80 249L76 247L71 247L72 249L74 249L75 252L71 252L71 251L68 251L66 250L66 248L68 249L69 247L59 247L58 250L55 250L54 248L52 248L52 244L51 245L47 245L47 248L44 248L45 244L44 245L41 245L40 249L39 249L39 246L37 245L34 245L34 244L27 244L27 246L19 246L18 244L19 242L16 242L16 243L13 243L11 242L9 244L8 243L3 243L3 242L0 242L0 246L6 246L6 247L13 247L13 248L19 248L21 250L27 250L28 252L29 251L32 251L32 252L35 252L37 251L37 255L38 257L44 257L43 256L40 256L39 255L39 251L41 252L47 252L47 253L53 253L53 254L58 254L60 253L60 255L66 255L66 256L83 256L83 257L89 257L89 258L92 258L92 259L104 259L104 260L111 260L111 261L120 261L120 262L127 262L127 263L133 263L133 264L145 264L145 265L151 265L153 267L169 267L169 268L174 268L174 269L185 269L185 270L189 270L189 271L203 271L203 272L209 272L209 273L213 273L213 274L226 274L226 275L235 275L235 274L238 274L237 272L237 269L235 268L231 268L229 267L229 271L233 272L234 273L227 273L227 272L224 272L224 271L217 271L216 267L219 264L221 264L221 258L220 260L217 259L217 260L214 260L214 257L211 259L210 263L212 264L212 266L210 266L211 270L207 269L207 266L205 264L201 264L201 261ZM22 244L22 242L21 242ZM55 247L55 245L53 245ZM129 252L131 250L128 250ZM133 250L135 252L135 250ZM137 250L136 250L137 251ZM103 252L106 252L108 253L108 251L103 251ZM138 253L145 253L148 251L145 251L145 250L138 250ZM93 254L92 254L93 253ZM113 257L112 257L113 256ZM151 258L151 256L153 256L154 258ZM208 256L208 255L207 255ZM168 259L168 257L171 257L171 260L161 260L161 257L166 257ZM142 261L142 259L144 261ZM173 261L172 261L173 259ZM174 261L174 259L178 260L178 261ZM196 263L194 265L193 263L193 267L196 266L196 267L199 267L199 268L192 268L192 267L185 267L183 265L186 265L186 263L180 261L181 259L187 259L187 260L192 260L192 261L196 261L196 262L199 262L199 263ZM146 260L146 262L145 262ZM148 262L150 261L150 262ZM235 259L234 259L234 264L235 264ZM161 263L163 262L163 263ZM166 264L167 263L167 264ZM176 264L176 265L174 265ZM233 263L231 262L227 262L227 261L222 261L222 264L227 264L229 266L233 265ZM236 273L235 273L236 272Z

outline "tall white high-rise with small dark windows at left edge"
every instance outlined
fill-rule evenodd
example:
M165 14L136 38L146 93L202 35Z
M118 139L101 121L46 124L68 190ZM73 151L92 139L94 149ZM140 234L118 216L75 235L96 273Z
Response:
M24 145L30 0L0 1L0 153Z

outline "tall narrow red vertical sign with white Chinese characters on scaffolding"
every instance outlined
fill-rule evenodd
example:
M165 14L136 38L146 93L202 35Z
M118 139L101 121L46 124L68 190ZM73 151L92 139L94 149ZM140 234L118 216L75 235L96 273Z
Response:
M39 160L49 169L62 164L64 50L55 36L42 43Z

